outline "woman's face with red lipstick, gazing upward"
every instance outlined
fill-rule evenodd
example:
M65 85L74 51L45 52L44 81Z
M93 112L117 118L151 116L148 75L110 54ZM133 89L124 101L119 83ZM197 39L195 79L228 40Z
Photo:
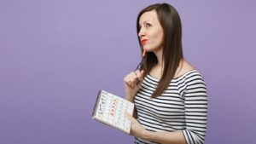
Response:
M162 49L164 32L155 10L143 13L139 20L139 26L138 36L140 37L143 49L147 52L155 52Z

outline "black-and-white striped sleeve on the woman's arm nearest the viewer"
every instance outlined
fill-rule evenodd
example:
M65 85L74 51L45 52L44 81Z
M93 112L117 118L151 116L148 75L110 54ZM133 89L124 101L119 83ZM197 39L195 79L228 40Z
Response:
M207 87L200 74L186 79L184 94L187 144L203 144L207 132Z

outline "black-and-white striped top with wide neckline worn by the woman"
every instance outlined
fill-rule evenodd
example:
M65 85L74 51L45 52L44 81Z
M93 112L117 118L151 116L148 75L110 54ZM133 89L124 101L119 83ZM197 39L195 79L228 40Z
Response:
M207 87L201 73L192 70L173 78L162 95L150 98L159 79L146 75L135 96L137 120L146 130L182 130L188 144L204 143L207 132ZM135 138L135 143L156 142Z

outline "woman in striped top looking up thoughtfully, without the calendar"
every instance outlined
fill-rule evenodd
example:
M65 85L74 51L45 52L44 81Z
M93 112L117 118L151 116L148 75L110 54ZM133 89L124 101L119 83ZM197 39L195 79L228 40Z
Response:
M135 103L135 143L203 143L207 131L207 88L201 73L183 58L182 27L167 3L137 16L138 40L146 54L142 70L125 76L125 99Z

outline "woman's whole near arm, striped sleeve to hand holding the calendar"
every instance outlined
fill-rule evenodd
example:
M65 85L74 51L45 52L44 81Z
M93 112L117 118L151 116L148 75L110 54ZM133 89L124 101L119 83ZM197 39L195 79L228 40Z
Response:
M207 131L207 88L201 75L187 79L184 95L185 129L173 132L153 132L143 128L137 119L131 120L131 135L147 141L165 144L202 144Z

